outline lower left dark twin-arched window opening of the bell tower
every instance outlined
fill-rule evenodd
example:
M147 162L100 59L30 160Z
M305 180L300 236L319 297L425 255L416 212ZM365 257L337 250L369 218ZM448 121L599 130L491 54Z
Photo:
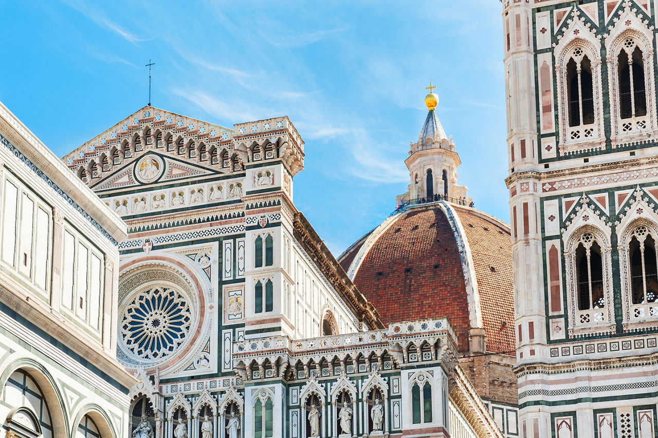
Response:
M592 233L585 233L580 238L576 249L576 281L578 283L578 310L605 307L603 258L601 257L601 247L595 241Z

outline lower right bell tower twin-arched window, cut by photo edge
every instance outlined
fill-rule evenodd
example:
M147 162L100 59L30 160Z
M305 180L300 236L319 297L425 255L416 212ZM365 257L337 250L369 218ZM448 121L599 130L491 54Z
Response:
M655 240L645 226L639 226L633 234L628 245L632 304L658 303Z

